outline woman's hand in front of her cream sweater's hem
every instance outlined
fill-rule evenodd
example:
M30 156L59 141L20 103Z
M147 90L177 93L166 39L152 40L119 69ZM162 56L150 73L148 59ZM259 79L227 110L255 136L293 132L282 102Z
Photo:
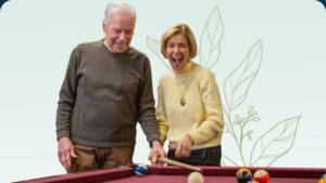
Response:
M189 135L186 135L180 141L170 145L170 149L175 149L176 158L187 158L191 153L192 141Z

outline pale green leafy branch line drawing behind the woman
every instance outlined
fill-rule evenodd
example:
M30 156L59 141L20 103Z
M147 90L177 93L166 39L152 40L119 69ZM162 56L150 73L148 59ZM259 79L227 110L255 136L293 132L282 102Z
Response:
M221 41L224 34L224 25L218 6L215 6L209 15L203 27L199 41L199 61L203 67L210 68L214 75L218 70L212 69L220 61L222 54ZM147 38L148 48L159 58L166 69L171 69L166 60L161 54L161 42L153 38ZM281 156L285 156L292 147L298 125L301 116L293 116L287 119L275 121L271 129L263 129L259 113L253 105L248 106L248 113L241 115L238 108L247 99L251 84L258 77L263 61L263 42L256 40L249 49L243 61L231 70L224 81L223 112L225 117L224 136L234 139L238 158L231 158L223 154L223 166L264 166L269 167ZM218 69L221 69L218 67ZM215 75L216 76L216 75ZM221 90L221 89L220 89ZM271 122L271 121L268 121ZM259 126L260 131L254 131L251 126ZM253 139L253 133L260 136ZM253 142L249 147L247 142ZM228 145L228 144L226 144ZM244 148L250 149L246 156ZM237 160L239 159L239 160Z

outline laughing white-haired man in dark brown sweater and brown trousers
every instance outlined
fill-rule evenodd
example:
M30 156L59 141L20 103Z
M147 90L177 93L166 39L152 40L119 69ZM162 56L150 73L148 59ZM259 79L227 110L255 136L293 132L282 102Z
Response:
M72 52L57 114L59 159L68 173L133 164L136 125L150 143L150 160L161 146L148 57L129 47L136 13L127 3L105 10L105 38Z

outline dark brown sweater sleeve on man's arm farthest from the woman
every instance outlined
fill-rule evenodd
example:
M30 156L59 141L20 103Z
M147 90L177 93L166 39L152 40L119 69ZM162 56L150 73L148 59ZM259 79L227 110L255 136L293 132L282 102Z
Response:
M77 91L77 68L79 56L76 49L72 52L66 74L59 93L59 102L57 109L57 140L61 138L70 138L71 119L75 106Z

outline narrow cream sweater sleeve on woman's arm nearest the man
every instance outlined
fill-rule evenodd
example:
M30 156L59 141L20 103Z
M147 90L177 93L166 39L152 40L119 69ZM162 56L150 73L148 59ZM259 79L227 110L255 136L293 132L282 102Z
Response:
M156 117L158 117L158 123L159 123L159 131L160 131L160 140L162 142L162 145L164 145L164 142L166 140L166 134L168 131L168 125L167 125L167 117L165 112L165 105L164 105L164 93L163 93L163 86L159 83L158 87L158 110L156 110Z

